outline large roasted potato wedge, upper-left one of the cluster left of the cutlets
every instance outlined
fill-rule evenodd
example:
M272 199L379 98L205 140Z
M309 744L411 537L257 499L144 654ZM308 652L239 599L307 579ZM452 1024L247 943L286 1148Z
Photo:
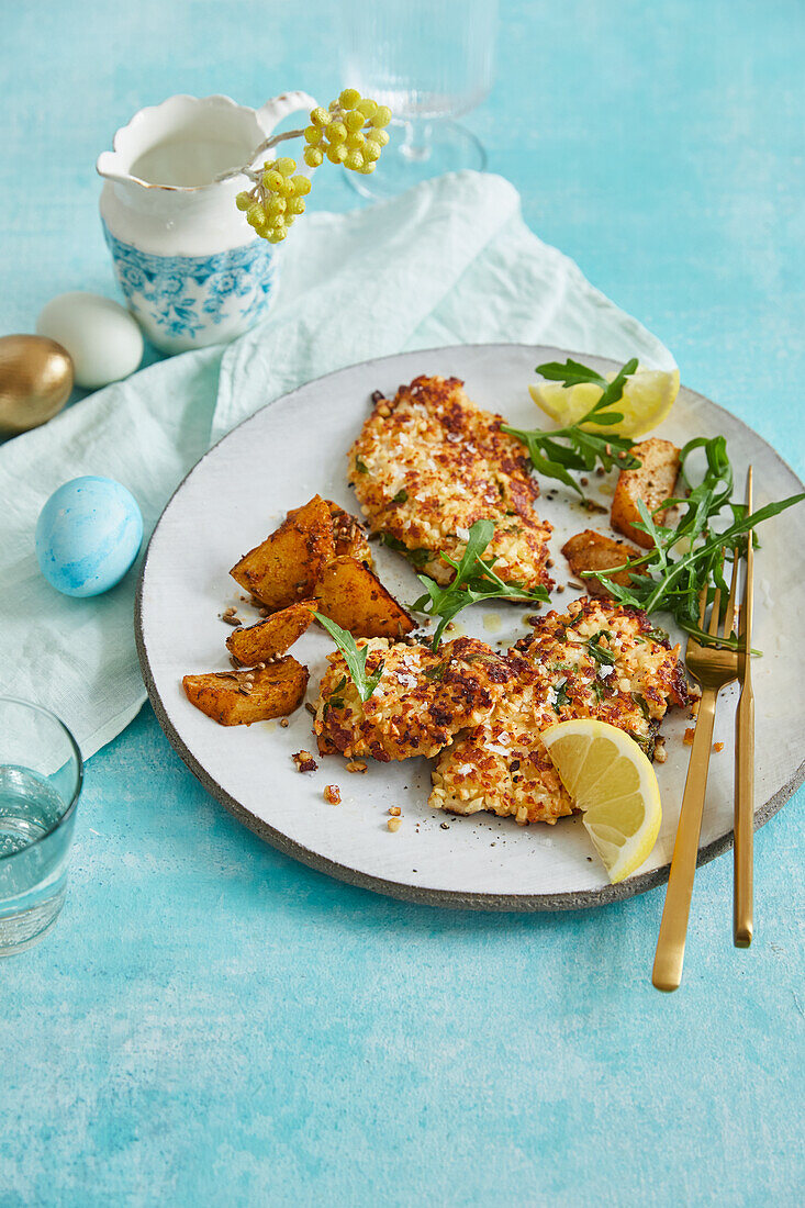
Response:
M279 528L249 550L230 574L266 608L276 611L313 596L328 562L335 558L332 517L320 495L288 513Z

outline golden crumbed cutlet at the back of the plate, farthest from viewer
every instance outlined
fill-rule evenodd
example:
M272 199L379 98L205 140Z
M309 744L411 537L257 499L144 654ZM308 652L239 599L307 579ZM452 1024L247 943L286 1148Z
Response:
M381 399L349 451L349 482L373 532L405 547L425 574L447 583L470 525L491 519L486 556L505 582L552 586L545 561L551 525L534 510L539 494L522 445L503 419L470 402L457 378L419 377Z

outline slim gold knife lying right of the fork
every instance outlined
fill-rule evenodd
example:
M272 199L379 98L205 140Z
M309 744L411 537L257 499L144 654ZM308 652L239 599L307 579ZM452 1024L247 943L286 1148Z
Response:
M752 466L746 480L747 513L752 512ZM754 692L752 690L752 593L754 548L752 533L746 542L746 585L739 637L741 697L735 714L735 888L732 940L736 948L752 943L752 864L754 841Z

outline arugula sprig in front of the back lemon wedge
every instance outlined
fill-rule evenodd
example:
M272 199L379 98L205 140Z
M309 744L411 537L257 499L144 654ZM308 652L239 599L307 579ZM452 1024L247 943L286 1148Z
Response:
M612 470L615 463L620 470L633 470L641 465L639 460L630 453L632 441L625 436L615 436L610 432L589 432L584 424L610 425L619 424L624 418L622 412L610 408L622 396L626 378L637 368L637 358L632 358L618 371L612 382L602 377L595 370L578 361L567 360L564 365L558 361L550 361L548 365L538 365L537 372L550 382L563 382L566 389L578 385L580 382L592 382L600 385L602 395L598 401L575 424L566 428L555 428L551 432L545 432L539 428L526 430L511 428L503 424L500 431L516 436L528 449L531 464L538 474L546 478L558 478L567 487L575 490L583 499L585 494L575 478L571 477L571 470L595 470L601 463L604 470ZM626 454L619 457L619 453Z

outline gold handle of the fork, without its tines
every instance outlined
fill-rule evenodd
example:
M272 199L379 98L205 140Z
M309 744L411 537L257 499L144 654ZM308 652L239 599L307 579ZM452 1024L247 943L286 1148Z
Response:
M677 989L682 981L690 898L696 875L699 835L701 832L701 815L707 792L707 769L710 767L714 721L716 692L712 689L705 689L699 704L696 732L690 750L688 778L679 809L679 825L677 827L677 840L673 844L671 872L668 873L668 889L665 895L660 937L656 942L656 954L651 971L651 982L658 989Z

